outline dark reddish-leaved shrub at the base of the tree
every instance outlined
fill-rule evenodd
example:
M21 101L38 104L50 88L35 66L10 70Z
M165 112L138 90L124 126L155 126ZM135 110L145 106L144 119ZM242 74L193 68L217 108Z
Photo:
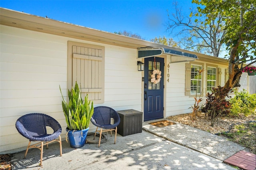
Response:
M215 124L218 117L226 116L230 113L231 104L226 100L226 97L230 98L228 96L229 92L230 89L218 86L218 88L212 90L211 94L207 93L205 106L201 110L210 119L211 126Z

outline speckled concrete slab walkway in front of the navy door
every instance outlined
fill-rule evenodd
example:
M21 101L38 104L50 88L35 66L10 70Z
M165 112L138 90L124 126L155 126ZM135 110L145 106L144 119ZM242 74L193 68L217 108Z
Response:
M144 130L222 161L244 149L224 137L185 124L175 122L174 125L158 128L149 124L150 122L155 120L143 122Z

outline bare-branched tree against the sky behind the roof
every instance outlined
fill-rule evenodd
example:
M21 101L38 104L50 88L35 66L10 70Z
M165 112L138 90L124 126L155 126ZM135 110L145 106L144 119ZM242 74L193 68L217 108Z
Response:
M200 8L196 10L190 8L190 15L184 16L182 8L174 2L174 10L174 13L168 13L167 30L174 36L182 35L180 38L182 48L218 57L223 49L222 39L226 34L222 16L205 24L204 20L207 16L204 13L198 13L202 10ZM181 29L175 32L177 28Z

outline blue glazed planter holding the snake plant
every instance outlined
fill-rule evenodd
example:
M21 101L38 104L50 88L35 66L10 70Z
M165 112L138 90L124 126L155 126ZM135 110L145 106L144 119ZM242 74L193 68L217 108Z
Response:
M86 136L88 134L88 130L70 130L68 131L68 128L66 128L66 131L68 132L68 140L71 148L81 148L84 146L86 141ZM82 134L81 134L82 132Z

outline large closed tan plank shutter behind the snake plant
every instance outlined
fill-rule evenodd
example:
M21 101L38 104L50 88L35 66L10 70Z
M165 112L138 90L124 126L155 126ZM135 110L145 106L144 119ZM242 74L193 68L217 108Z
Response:
M104 102L102 49L72 46L72 86L81 86L82 98L88 94L94 103Z

